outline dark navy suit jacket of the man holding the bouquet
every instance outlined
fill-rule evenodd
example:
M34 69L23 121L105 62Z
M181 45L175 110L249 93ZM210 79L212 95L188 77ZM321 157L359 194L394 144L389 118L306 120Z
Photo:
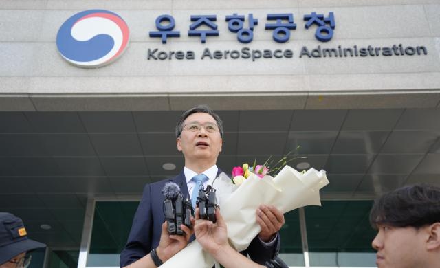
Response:
M221 173L219 172L217 175ZM160 234L162 233L162 223L165 221L162 204L164 196L161 193L162 188L168 181L173 181L180 186L181 192L186 197L188 194L188 186L186 186L186 179L184 171L171 179L157 181L155 183L147 184L144 187L142 200L137 207L133 225L129 234L129 239L120 255L120 266L125 267L131 263L139 260L150 253L151 249L159 245ZM192 240L194 236L192 237ZM241 254L249 254L250 258L256 263L264 265L267 260L270 260L278 254L281 239L277 236L277 241L272 246L266 247L261 243L258 237L250 243L248 249L241 252Z

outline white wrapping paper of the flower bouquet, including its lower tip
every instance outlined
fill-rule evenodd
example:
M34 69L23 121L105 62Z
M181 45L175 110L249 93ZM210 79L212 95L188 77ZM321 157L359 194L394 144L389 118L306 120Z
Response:
M275 178L262 179L251 175L240 186L232 184L222 173L213 187L217 189L221 215L228 225L230 245L241 251L248 248L252 239L259 234L256 223L256 208L261 204L274 205L283 213L305 205L321 205L319 190L329 184L324 170L311 168L302 174L285 166ZM211 268L214 258L203 251L197 241L192 241L161 267Z

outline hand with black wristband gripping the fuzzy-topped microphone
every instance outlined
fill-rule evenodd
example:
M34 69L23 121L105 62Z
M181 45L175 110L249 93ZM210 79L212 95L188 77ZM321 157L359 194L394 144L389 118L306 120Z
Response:
M194 218L191 218L191 223L194 225ZM190 237L194 233L194 230L188 228L186 225L181 225L181 230L184 231L183 236L177 234L169 234L167 223L162 224L162 233L160 234L159 247L156 252L159 259L162 262L166 262L169 258L173 257L177 252L181 251L190 240Z

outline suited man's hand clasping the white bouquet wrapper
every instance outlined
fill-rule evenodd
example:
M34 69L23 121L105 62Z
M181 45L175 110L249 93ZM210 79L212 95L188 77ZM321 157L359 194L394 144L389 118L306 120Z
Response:
M273 205L260 205L256 209L256 222L261 227L259 238L267 243L284 225L284 215Z

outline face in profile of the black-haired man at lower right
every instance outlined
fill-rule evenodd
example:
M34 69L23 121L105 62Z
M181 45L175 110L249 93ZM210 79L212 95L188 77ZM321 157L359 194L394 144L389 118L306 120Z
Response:
M426 233L415 227L378 224L379 232L371 245L377 250L378 268L423 267Z

